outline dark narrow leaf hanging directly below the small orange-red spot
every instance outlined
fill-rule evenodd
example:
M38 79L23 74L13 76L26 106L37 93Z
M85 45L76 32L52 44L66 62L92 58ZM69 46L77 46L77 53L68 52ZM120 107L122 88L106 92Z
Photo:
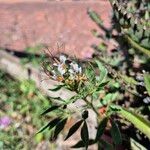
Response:
M103 135L105 131L105 127L107 125L107 121L108 121L108 118L106 117L99 123L98 128L97 128L96 138L95 138L96 141L98 141L100 137Z

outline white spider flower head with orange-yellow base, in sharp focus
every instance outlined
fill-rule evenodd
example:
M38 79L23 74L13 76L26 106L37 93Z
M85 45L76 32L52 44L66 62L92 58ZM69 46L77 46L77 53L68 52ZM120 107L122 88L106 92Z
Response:
M78 84L81 82L84 84L86 81L82 67L74 60L69 60L65 55L54 59L51 74L52 79L63 82L67 87L78 87Z

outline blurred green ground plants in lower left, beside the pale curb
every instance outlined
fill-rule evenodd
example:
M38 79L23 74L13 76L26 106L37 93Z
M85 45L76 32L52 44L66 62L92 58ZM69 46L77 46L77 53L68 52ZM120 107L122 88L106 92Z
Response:
M49 136L46 133L34 136L48 119L39 120L39 114L42 107L50 106L49 98L39 92L33 81L15 81L2 70L0 91L0 119L7 116L10 120L10 124L3 128L0 122L0 149L36 148Z

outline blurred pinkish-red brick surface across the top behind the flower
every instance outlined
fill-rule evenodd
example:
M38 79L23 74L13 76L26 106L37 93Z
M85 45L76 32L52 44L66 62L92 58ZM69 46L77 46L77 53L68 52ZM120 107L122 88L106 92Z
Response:
M93 51L90 46L99 39L91 34L98 27L87 15L87 8L96 10L110 26L111 7L107 0L1 2L0 47L23 51L39 43L54 46L63 42L67 54L89 57Z

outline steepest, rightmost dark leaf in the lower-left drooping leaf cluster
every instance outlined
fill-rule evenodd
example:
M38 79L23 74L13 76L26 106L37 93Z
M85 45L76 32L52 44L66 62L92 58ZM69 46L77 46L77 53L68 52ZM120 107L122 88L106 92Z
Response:
M63 128L65 127L65 124L67 122L67 119L68 118L65 118L63 120L61 120L57 125L56 125L56 128L55 128L55 131L54 131L54 136L53 136L53 139L55 140L58 136L58 134L63 130Z

